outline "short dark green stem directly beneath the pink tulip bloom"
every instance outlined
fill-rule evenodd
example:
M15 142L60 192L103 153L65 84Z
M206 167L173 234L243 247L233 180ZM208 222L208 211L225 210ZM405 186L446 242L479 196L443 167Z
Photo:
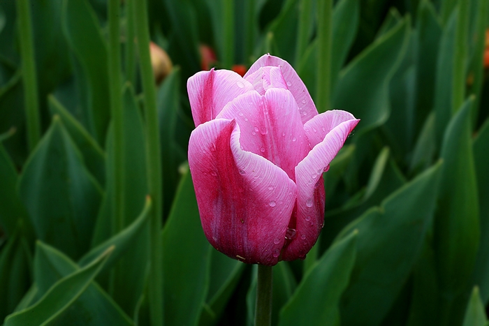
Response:
M258 265L255 326L270 326L272 324L272 283L272 267Z

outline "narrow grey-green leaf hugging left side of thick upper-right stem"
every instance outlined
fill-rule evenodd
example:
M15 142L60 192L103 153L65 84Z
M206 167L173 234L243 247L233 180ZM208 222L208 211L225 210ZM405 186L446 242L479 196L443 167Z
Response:
M450 94L452 92L456 23L457 10L453 10L439 41L434 99L438 144L443 138L445 128L454 111Z

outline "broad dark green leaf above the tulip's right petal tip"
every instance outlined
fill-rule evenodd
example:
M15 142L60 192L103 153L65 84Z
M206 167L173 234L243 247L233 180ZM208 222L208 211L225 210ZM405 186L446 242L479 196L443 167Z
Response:
M402 20L361 52L340 74L333 107L348 110L362 120L356 128L357 134L384 124L389 117L388 82L406 51L409 25L409 17Z

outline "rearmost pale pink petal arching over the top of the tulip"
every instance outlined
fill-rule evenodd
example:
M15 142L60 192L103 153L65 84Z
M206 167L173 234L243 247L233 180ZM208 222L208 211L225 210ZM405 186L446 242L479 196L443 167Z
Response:
M287 88L291 91L295 102L297 102L300 110L300 117L302 119L302 124L312 119L312 117L318 114L316 110L316 105L312 101L309 91L305 87L304 82L300 79L299 75L295 72L294 68L289 64L289 62L274 57L270 54L264 54L258 60L255 61L253 65L249 68L245 74L245 79L252 73L258 71L261 67L275 66L280 67L284 80L286 81Z

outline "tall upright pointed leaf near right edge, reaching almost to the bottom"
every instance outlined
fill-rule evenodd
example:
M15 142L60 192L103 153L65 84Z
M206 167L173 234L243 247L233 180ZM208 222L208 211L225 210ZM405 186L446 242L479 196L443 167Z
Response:
M469 98L446 128L441 158L439 205L435 218L435 252L440 289L440 325L460 323L465 295L479 248L477 194Z

